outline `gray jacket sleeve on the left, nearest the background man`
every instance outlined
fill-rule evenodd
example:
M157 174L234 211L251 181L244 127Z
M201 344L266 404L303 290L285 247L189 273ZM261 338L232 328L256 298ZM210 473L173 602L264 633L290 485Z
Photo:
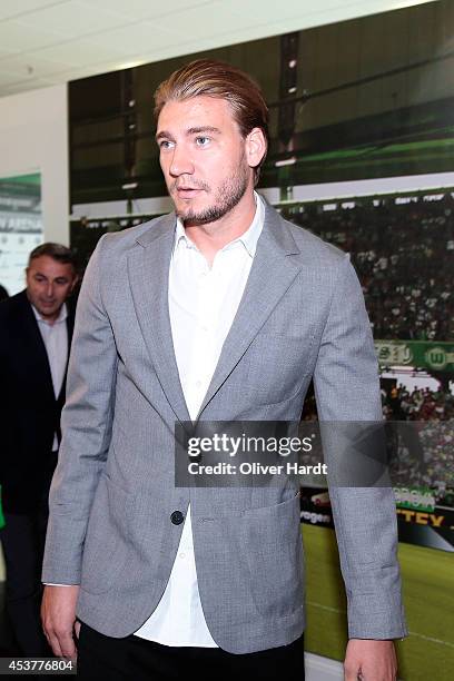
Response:
M79 584L91 504L111 437L117 351L102 304L106 238L88 264L68 365L62 441L49 495L42 581Z

